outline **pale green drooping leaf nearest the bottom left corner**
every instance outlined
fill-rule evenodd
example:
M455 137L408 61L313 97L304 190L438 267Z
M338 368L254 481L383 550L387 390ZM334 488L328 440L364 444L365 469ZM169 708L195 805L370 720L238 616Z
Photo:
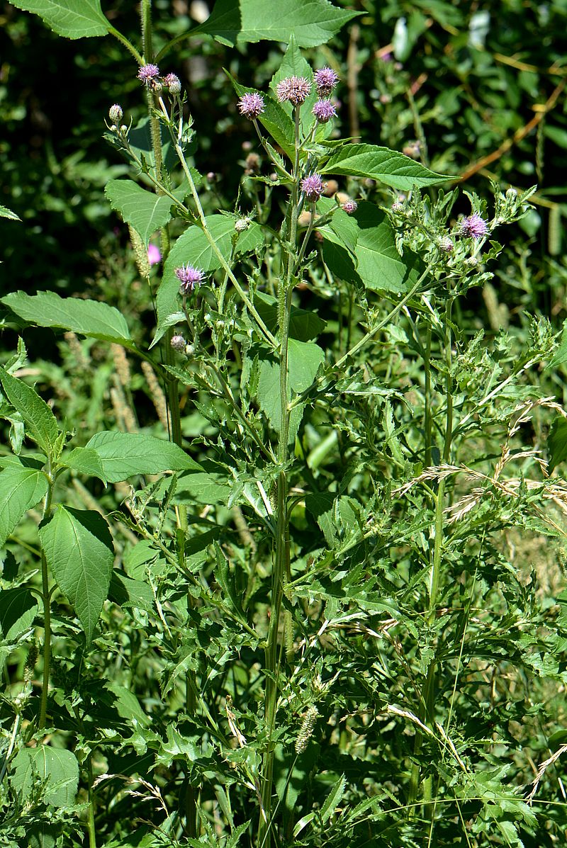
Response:
M10 781L24 800L31 795L36 775L45 784L45 801L50 806L70 806L79 785L79 763L65 748L22 748L14 757Z

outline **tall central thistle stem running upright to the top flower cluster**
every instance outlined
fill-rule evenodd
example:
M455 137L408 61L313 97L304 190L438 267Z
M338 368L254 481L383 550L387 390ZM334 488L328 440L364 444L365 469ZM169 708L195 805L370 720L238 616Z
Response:
M289 245L285 281L278 289L278 334L279 334L279 404L280 426L278 436L278 505L276 527L276 552L272 570L272 604L266 649L266 707L267 748L264 754L261 784L261 817L258 830L258 845L270 848L272 844L272 784L273 784L273 731L278 706L279 655L278 633L283 604L283 585L289 581L289 527L288 527L288 473L289 457L289 398L288 398L288 350L291 297L294 290L295 243L297 241L297 218L299 215L300 176L300 109L295 107L295 150L294 181L291 188L289 209Z

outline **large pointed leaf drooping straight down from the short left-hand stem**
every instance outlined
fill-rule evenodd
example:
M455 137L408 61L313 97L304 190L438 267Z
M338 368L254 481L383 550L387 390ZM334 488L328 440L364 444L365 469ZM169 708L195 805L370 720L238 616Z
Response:
M114 561L109 526L98 512L58 505L39 535L53 577L90 642L108 596Z

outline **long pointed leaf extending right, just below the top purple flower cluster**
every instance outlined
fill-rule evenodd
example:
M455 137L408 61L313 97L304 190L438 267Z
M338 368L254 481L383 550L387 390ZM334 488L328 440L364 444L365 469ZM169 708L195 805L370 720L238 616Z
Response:
M454 179L446 174L435 174L403 153L374 144L346 144L319 168L319 173L365 176L401 192L415 187L437 186L440 182Z

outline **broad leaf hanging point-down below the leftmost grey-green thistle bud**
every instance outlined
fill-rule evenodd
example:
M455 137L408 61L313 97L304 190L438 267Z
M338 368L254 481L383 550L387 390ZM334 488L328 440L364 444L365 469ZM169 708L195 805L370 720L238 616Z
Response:
M186 182L171 193L182 201L188 192ZM173 200L164 194L150 192L132 180L110 180L104 194L112 209L120 212L122 220L138 232L146 248L154 232L171 220L171 206L175 205Z

